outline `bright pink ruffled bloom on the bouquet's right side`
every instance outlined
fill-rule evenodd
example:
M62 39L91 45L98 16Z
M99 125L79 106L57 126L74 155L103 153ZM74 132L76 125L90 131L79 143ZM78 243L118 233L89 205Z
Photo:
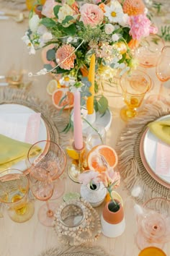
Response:
M142 37L148 36L150 33L154 33L157 30L151 26L151 20L146 17L146 14L139 14L129 17L130 23L130 35L133 39L140 40Z

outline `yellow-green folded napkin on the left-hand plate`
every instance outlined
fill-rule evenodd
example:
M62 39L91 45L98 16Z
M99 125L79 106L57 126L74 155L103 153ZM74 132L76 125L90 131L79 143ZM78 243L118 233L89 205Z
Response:
M28 150L31 144L13 140L12 138L0 135L0 171L13 166L15 163L27 158ZM32 152L40 153L41 148L35 148Z

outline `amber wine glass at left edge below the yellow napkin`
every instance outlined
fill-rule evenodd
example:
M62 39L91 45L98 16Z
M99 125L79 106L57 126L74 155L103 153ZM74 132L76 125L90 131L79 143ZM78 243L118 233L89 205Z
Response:
M6 205L12 221L22 223L34 214L34 203L29 200L29 179L22 172L11 168L0 174L0 201Z

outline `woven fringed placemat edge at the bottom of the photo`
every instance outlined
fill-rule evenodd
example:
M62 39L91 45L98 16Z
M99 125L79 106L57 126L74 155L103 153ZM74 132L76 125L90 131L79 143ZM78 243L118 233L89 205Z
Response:
M103 248L99 246L88 247L81 245L79 247L64 246L63 248L50 248L38 256L109 256ZM114 255L112 255L114 256Z

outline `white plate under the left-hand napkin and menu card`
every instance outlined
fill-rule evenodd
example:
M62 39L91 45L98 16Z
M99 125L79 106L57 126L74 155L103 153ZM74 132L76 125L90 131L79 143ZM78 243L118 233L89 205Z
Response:
M14 116L14 114L32 114L32 113L36 113L35 111L33 111L31 108L28 108L27 106L22 106L19 104L1 104L0 105L0 116L1 114L4 113L8 113L8 114L12 114L12 116ZM43 119L40 119L40 132L38 135L38 141L40 140L49 140L49 134L48 134L48 129L45 126L45 121L43 121ZM43 150L43 149L42 149ZM13 165L11 168L18 168L21 171L24 171L27 169L27 166L25 164L25 161L20 161L19 163L16 163L15 165Z

